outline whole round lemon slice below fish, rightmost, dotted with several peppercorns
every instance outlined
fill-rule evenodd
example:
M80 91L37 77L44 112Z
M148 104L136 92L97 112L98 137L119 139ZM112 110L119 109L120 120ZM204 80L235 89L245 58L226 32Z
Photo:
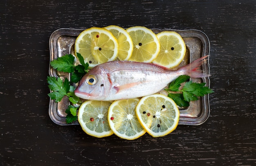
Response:
M141 98L136 114L141 125L153 137L161 137L176 129L180 111L175 102L162 94Z

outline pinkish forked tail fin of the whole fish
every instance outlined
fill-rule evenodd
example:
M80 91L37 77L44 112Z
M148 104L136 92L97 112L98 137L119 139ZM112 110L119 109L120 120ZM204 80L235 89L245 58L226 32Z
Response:
M200 68L200 66L207 57L209 57L209 55L201 57L193 61L192 63L187 64L186 66L182 67L182 70L185 72L186 75L189 75L191 78L202 78L210 76L209 74L204 73L203 70L201 70Z

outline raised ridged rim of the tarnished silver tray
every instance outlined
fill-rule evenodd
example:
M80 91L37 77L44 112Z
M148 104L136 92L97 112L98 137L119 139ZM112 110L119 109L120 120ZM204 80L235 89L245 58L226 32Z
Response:
M56 41L58 39L58 37L61 37L63 35L69 35L69 36L78 36L83 30L85 30L86 28L59 28L56 29L55 31L53 31L53 33L50 35L49 38L49 50L50 50L50 59L49 59L49 63L52 61L52 59L56 59L57 55L56 55ZM202 56L205 55L209 55L210 53L210 42L209 42L209 38L207 37L207 35L200 31L200 30L196 30L196 29L187 29L187 30L177 30L177 29L168 29L168 28L164 28L164 29L159 29L159 28L151 28L152 31L175 31L177 33L179 33L182 37L198 37L201 42L202 42ZM61 33L60 33L61 32ZM189 35L188 32L191 32ZM206 59L206 64L203 64L202 66L203 70L207 72L207 74L210 74L210 65L209 65L209 57ZM56 72L53 72L54 70L51 70L51 66L49 64L49 76L55 76L58 77L56 75ZM203 82L206 83L205 86L210 87L210 79L209 77L205 77L202 78ZM50 90L50 92L52 92ZM184 117L180 117L179 120L179 124L181 125L200 125L203 124L205 121L207 121L207 119L209 118L210 115L210 105L209 105L209 94L204 95L203 97L201 97L202 99L202 109L204 111L202 111L202 114L200 114L199 117L197 118L184 118ZM204 101L204 102L203 102ZM70 124L67 124L65 121L65 118L61 118L57 115L56 111L52 111L52 109L56 108L58 103L55 102L55 100L52 100L50 98L49 101L49 116L51 118L51 120L58 124L58 125L62 125L62 126L66 126L66 125L78 125L78 122L72 122ZM65 123L59 123L60 121L64 121Z

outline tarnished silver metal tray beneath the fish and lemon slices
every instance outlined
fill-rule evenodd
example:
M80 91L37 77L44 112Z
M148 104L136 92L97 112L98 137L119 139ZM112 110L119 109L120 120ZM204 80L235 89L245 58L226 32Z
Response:
M50 61L57 59L66 54L74 53L74 42L76 37L83 31L84 29L70 29L70 28L61 28L52 33L49 39L49 48L50 48ZM175 31L179 33L184 42L186 44L186 55L184 61L180 63L177 68L184 66L192 61L203 57L205 55L209 55L210 44L208 37L202 32L198 30L172 30L172 29L152 29L154 33L159 33L162 31ZM209 58L202 64L202 70L209 74ZM49 75L55 77L61 77L61 79L69 79L70 74L58 72L54 70L51 66L49 66ZM210 86L210 79L202 78L202 79L191 79L194 82L204 82L205 86ZM164 92L163 92L164 93ZM76 125L79 124L78 121L67 124L66 123L66 113L70 102L68 98L64 97L61 102L56 103L55 100L51 100L49 102L49 116L53 122L59 125ZM186 109L180 108L180 120L179 124L186 125L199 125L204 123L210 114L209 107L209 95L205 95L204 97L200 97L200 100L193 101L190 103L190 106Z

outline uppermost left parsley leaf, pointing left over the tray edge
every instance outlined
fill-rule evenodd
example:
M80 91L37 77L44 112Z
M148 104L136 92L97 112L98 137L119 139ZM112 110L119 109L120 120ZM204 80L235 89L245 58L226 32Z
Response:
M55 59L51 61L51 66L61 72L74 72L74 63L75 57L71 54L65 55L63 57L58 57L58 59Z

